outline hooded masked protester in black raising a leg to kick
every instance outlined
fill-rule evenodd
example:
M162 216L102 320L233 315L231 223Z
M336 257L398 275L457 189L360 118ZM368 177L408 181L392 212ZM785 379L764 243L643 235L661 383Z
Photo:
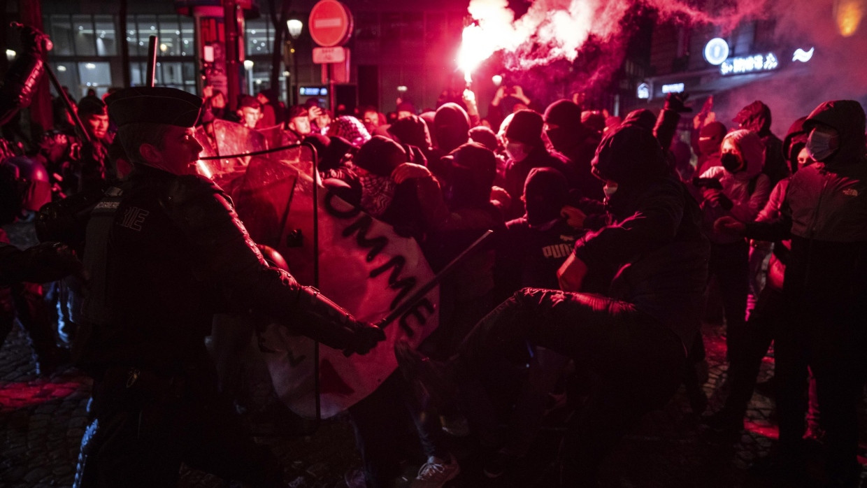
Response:
M596 483L617 440L675 393L684 344L699 326L707 271L698 205L669 176L651 131L618 127L605 136L592 164L598 178L611 188L616 183L610 194L614 222L577 240L557 273L563 291L518 291L476 325L456 359L467 401L485 395L483 378L492 365L529 364L532 378L538 364L528 356L528 343L594 371L590 401L565 434L564 485ZM620 268L609 296L581 293L588 267L597 264ZM495 427L493 419L473 409L470 420ZM497 451L497 429L483 432L483 446Z

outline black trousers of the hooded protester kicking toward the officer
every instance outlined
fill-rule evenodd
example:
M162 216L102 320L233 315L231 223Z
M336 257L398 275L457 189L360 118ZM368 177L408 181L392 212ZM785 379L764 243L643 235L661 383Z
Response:
M598 466L623 434L675 394L686 361L680 338L631 303L524 289L466 337L461 374L479 374L503 361L533 368L528 351L534 346L569 356L595 378L564 438L562 478L569 486L595 482Z

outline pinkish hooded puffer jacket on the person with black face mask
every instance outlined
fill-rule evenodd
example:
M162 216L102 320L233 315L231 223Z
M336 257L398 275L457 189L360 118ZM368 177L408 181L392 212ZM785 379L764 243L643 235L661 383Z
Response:
M740 129L729 133L726 139L740 147L740 152L746 159L746 169L731 173L722 166L714 166L701 175L701 178L719 179L722 192L733 203L729 210L707 200L701 203L704 231L707 238L715 244L732 244L740 240L740 237L714 231L717 218L731 216L740 222L753 222L771 194L771 181L761 172L765 156L756 134Z

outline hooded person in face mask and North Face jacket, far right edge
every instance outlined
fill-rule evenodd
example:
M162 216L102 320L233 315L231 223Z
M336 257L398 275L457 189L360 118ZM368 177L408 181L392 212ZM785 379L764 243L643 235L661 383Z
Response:
M779 218L717 228L763 240L791 237L783 283L786 327L774 342L779 463L786 484L803 482L805 378L812 368L825 426L825 479L857 486L857 406L863 393L867 338L867 158L864 108L825 101L807 117L806 147L817 162L792 176Z

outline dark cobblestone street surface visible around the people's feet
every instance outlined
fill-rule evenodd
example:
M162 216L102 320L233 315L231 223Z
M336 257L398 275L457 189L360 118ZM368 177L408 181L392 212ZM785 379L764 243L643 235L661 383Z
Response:
M705 391L709 410L719 406L724 383L725 339L722 328L704 327L708 380ZM772 374L772 357L763 362L759 382ZM316 433L310 423L281 413L270 402L270 387L263 370L248 374L257 407L244 415L257 442L271 446L284 466L290 486L343 487L344 474L360 464L349 420L344 416L324 420ZM258 381L256 379L258 378ZM65 368L49 378L36 375L23 333L15 329L0 349L0 486L69 486L75 472L78 445L87 423L90 381L75 368ZM865 420L862 404L861 418ZM602 468L603 486L610 487L764 487L769 479L756 478L747 467L767 456L775 445L773 403L756 393L750 403L746 429L734 436L708 433L690 411L681 391L662 410L649 413L640 426L616 447ZM862 422L862 456L867 435ZM402 433L394 433L402 435ZM515 473L490 481L479 469L472 440L453 439L449 448L459 459L461 474L447 486L552 486L557 478L551 459L562 431L548 426L540 434L532 454ZM865 459L861 459L863 462ZM407 478L418 468L406 466ZM229 486L223 480L186 468L180 486ZM865 475L862 475L864 478ZM406 482L400 485L407 485Z

